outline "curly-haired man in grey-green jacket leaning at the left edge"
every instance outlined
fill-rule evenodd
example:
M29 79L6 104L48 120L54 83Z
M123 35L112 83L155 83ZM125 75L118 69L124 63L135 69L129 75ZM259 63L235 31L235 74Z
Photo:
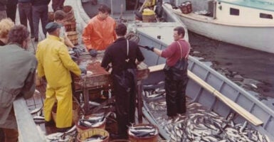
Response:
M28 99L35 90L37 60L26 50L29 35L25 26L14 26L9 31L9 44L0 48L0 128L4 130L5 142L18 141L14 100Z

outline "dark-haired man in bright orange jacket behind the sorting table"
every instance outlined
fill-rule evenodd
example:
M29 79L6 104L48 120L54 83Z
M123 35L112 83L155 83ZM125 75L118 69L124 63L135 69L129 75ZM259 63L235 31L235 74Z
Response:
M110 8L99 6L98 14L90 19L83 31L83 42L91 56L96 57L97 50L105 50L116 40L115 20L109 16Z

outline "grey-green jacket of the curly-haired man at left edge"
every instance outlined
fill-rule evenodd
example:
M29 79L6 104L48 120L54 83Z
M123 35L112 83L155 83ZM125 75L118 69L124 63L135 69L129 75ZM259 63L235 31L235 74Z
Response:
M31 97L37 61L34 55L18 45L5 45L0 48L0 127L6 122L14 99L26 91L24 97ZM28 80L27 79L33 79ZM25 96L26 95L26 96ZM2 125L1 125L2 124ZM9 124L16 129L16 124Z

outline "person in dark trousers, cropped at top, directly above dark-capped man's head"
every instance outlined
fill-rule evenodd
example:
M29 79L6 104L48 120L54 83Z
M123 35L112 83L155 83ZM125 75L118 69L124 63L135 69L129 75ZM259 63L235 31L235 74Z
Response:
M43 34L46 37L46 24L48 23L48 4L51 0L31 0L34 41L38 42L39 21L41 19Z

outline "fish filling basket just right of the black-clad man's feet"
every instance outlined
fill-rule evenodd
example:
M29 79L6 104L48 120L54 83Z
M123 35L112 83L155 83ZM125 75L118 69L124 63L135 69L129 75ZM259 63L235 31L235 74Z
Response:
M154 126L131 126L129 128L129 134L136 137L149 137L158 135L158 130Z

